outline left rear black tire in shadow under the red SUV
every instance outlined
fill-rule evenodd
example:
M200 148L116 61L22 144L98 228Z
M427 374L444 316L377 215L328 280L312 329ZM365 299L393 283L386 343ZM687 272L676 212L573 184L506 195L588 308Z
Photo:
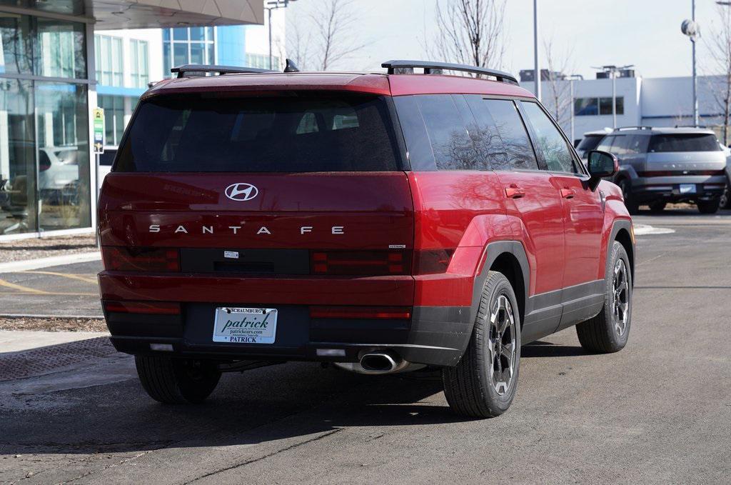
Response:
M165 404L203 402L221 378L215 364L164 356L135 356L140 383L152 399Z

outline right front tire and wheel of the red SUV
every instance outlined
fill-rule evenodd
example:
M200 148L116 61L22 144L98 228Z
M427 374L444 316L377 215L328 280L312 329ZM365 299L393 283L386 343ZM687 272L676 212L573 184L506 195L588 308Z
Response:
M621 263L620 263L621 262ZM621 293L616 292L618 282L615 274L618 266L624 267L624 282L626 287ZM619 295L619 298L618 298ZM621 312L615 307L616 303L626 303ZM626 317L625 317L626 315ZM629 338L629 327L632 323L632 269L629 266L629 257L624 247L613 241L607 274L605 275L604 307L599 315L579 323L576 334L584 350L592 353L612 353L622 350Z

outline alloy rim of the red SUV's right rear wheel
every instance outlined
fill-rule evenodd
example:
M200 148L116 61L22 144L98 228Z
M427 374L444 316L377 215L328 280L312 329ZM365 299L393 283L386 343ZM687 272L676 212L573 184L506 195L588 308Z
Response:
M516 331L510 300L507 296L500 295L490 315L489 337L491 384L499 396L510 389L515 373Z

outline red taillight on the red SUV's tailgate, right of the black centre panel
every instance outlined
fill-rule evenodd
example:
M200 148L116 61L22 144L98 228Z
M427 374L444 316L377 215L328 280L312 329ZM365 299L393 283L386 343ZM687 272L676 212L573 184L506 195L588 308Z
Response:
M313 251L312 274L383 276L408 274L410 252L393 251Z

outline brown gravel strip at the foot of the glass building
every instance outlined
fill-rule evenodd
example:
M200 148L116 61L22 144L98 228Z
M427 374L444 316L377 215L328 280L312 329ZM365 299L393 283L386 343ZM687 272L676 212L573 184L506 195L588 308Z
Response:
M0 242L0 263L96 251L94 234Z

